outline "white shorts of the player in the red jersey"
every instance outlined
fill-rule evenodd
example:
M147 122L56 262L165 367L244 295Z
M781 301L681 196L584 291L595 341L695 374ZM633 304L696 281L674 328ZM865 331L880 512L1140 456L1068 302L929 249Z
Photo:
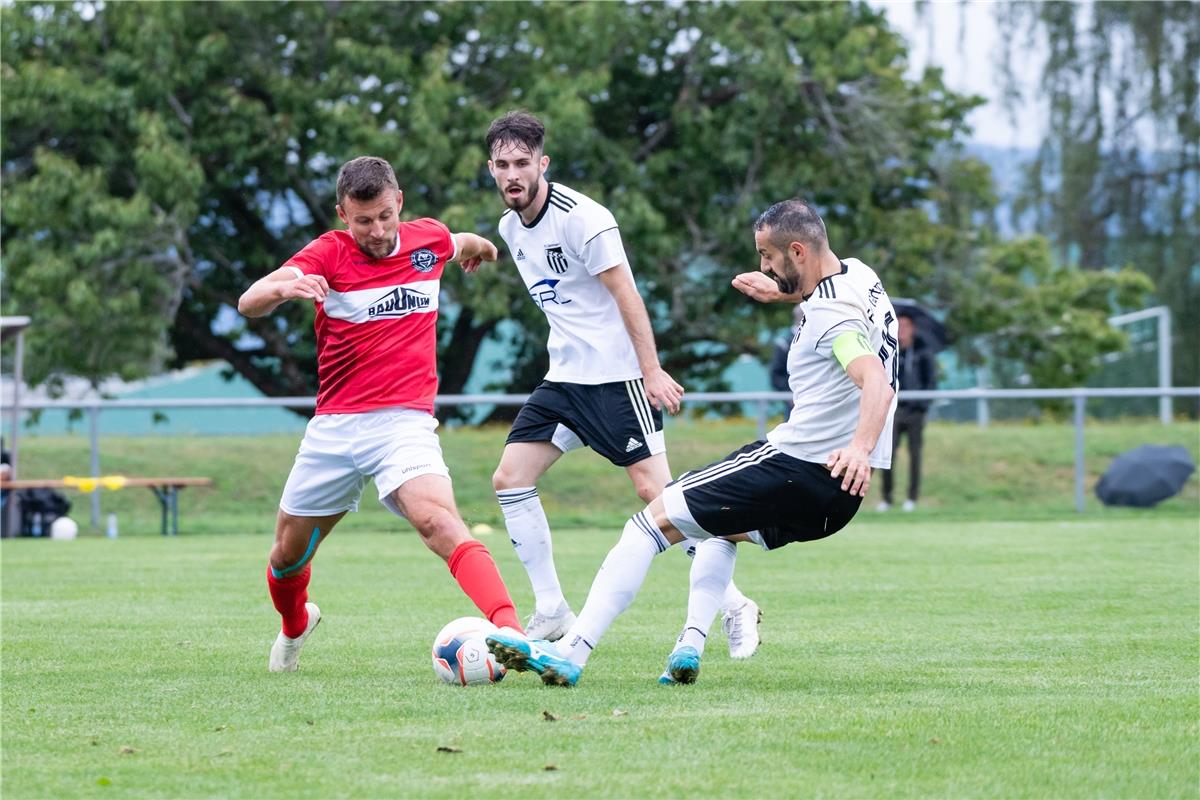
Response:
M432 415L408 408L312 417L280 509L294 517L358 511L362 488L373 477L379 503L403 516L390 495L404 481L418 475L450 477L437 428Z

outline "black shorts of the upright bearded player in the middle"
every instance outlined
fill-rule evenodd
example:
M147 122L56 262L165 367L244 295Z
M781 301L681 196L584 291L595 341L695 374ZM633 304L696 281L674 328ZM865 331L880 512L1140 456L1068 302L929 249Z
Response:
M612 384L544 380L512 422L508 443L550 441L563 452L588 446L617 467L666 452L662 411L642 379Z

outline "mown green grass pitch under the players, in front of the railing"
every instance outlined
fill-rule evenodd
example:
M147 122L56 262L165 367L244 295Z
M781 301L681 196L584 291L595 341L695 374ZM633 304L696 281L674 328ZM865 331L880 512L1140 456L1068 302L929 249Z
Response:
M563 530L582 603L616 529ZM485 539L518 602L503 534ZM407 533L335 534L300 672L269 674L269 536L5 541L2 790L18 798L1196 796L1195 519L896 525L743 546L757 656L655 684L688 559L660 555L578 687L451 687L472 613ZM550 718L553 717L553 718ZM445 750L442 750L445 748ZM446 752L450 751L450 752ZM511 789L511 790L508 790Z

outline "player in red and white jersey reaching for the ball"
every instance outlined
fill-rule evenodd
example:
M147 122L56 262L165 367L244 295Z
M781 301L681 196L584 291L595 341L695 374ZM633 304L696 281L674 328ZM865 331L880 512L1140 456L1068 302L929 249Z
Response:
M264 317L288 300L317 307L317 414L305 429L275 523L266 584L283 618L271 672L290 672L320 621L308 600L317 547L367 479L406 517L492 622L521 628L509 590L482 542L467 531L436 433L438 283L448 261L474 272L496 246L450 233L437 219L401 222L391 166L364 156L337 176L337 216L348 230L308 242L238 301Z

